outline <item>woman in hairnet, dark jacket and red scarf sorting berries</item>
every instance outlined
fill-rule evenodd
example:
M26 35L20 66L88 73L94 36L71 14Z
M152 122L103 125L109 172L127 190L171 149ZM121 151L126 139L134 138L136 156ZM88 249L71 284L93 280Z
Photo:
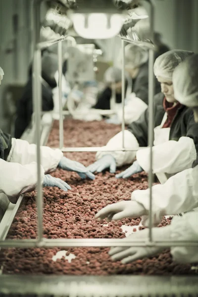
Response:
M198 150L198 124L193 112L174 97L172 74L174 69L193 53L186 50L170 50L159 56L154 63L154 73L161 83L161 92L154 98L154 147L153 173L175 174L191 168ZM130 164L127 170L116 175L127 178L134 173L149 171L150 148L148 146L148 109L125 130L125 148L135 151L97 152L97 161L88 166L91 172ZM122 132L109 140L105 148L121 149Z

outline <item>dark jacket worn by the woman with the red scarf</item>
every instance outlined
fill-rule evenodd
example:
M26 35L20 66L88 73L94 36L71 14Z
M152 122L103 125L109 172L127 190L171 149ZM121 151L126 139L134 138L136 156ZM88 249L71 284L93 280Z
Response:
M164 116L164 95L159 93L154 97L154 127L161 124ZM140 147L148 146L148 109L140 118L131 123L127 128L136 137ZM193 110L185 105L178 108L171 123L169 140L178 141L180 137L187 136L194 140L198 151L198 123L195 123Z

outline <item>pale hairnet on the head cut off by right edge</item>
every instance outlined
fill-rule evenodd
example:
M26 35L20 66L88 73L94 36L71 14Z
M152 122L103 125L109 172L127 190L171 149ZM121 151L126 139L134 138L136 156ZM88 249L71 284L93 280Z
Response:
M173 72L175 98L189 107L198 106L198 54L181 63Z

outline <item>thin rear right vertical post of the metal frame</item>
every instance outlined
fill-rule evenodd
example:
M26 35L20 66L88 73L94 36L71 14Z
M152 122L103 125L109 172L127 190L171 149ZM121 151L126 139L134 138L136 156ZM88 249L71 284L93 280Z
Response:
M124 52L124 40L122 40L122 148L124 148L124 130L125 130L125 119L124 119L124 99L125 99L125 52Z

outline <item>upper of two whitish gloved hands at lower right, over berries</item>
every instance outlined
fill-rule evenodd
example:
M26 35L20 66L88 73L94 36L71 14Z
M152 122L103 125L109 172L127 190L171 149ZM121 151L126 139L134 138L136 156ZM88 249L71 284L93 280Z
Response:
M106 207L99 210L96 215L98 220L103 220L107 218L107 221L118 221L123 218L137 218L142 215L147 214L144 206L137 201L120 201L107 205Z

